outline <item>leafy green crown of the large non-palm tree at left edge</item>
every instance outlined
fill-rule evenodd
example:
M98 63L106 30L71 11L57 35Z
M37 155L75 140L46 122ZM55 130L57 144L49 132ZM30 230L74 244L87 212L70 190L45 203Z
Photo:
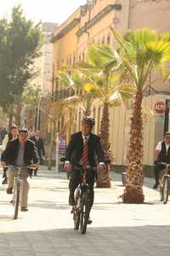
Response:
M0 105L6 112L35 75L33 64L40 47L40 24L26 20L20 5L14 7L10 20L0 20Z

